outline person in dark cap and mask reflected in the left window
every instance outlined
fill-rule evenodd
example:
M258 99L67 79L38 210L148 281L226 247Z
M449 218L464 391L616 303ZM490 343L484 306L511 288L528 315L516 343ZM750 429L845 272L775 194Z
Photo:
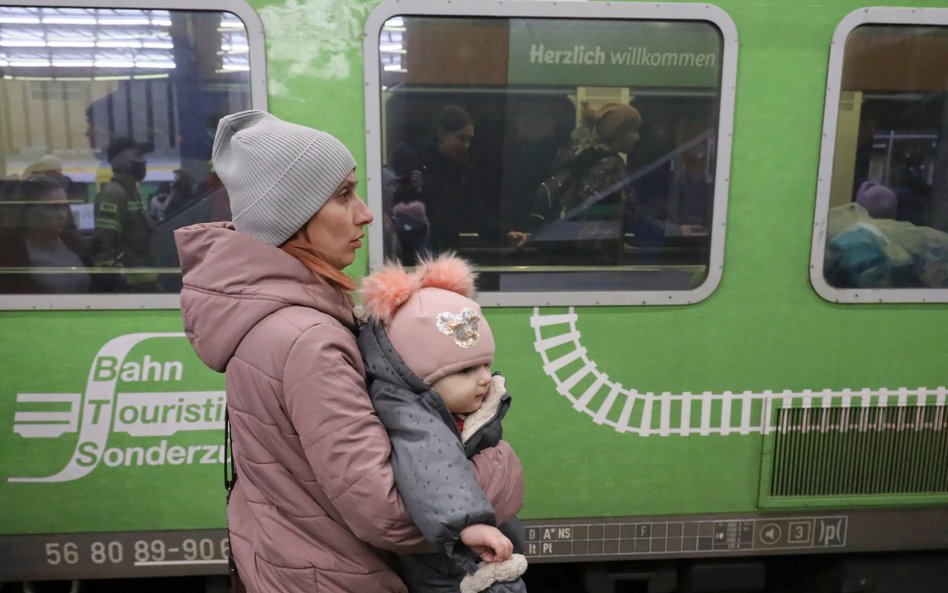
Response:
M95 198L93 264L98 268L141 268L152 264L151 235L154 221L138 193L145 179L145 154L151 145L122 137L109 143L112 179ZM99 277L100 279L105 276ZM155 275L136 272L109 277L103 290L147 292L155 288Z

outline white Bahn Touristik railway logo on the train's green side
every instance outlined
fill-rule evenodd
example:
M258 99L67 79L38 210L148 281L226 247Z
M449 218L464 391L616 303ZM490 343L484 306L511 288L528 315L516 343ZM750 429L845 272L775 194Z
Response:
M224 425L223 391L161 391L121 393L122 384L181 381L184 364L159 361L146 354L132 360L132 349L146 340L181 339L175 333L135 333L118 336L102 346L89 369L81 393L18 393L13 432L28 439L59 438L79 433L65 466L53 475L11 477L10 482L68 482L88 475L104 463L181 465L222 463L223 445L175 445L162 439L151 447L108 447L109 435L170 437L178 431L214 430Z

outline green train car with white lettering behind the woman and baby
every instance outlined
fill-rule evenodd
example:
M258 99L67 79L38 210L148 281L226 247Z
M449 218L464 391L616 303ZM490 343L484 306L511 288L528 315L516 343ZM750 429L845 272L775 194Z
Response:
M948 567L946 64L943 0L0 0L0 583L226 573L171 232L227 219L216 121L258 108L356 156L354 276L477 267L534 574L929 590L891 575Z

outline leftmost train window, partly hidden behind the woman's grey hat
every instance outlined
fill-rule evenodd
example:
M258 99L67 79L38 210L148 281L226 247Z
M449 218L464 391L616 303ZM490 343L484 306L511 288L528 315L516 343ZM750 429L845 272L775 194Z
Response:
M256 13L184 6L0 0L0 307L177 307L172 231L230 216L217 119L266 102Z

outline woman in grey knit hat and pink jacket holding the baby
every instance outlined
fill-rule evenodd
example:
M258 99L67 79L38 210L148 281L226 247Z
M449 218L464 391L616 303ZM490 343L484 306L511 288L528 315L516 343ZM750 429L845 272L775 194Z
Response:
M221 119L212 158L233 223L175 239L185 331L227 376L240 577L250 593L404 592L387 552L426 548L395 490L342 272L372 222L355 160L329 134L261 111ZM498 518L512 517L523 495L512 449L474 468Z

